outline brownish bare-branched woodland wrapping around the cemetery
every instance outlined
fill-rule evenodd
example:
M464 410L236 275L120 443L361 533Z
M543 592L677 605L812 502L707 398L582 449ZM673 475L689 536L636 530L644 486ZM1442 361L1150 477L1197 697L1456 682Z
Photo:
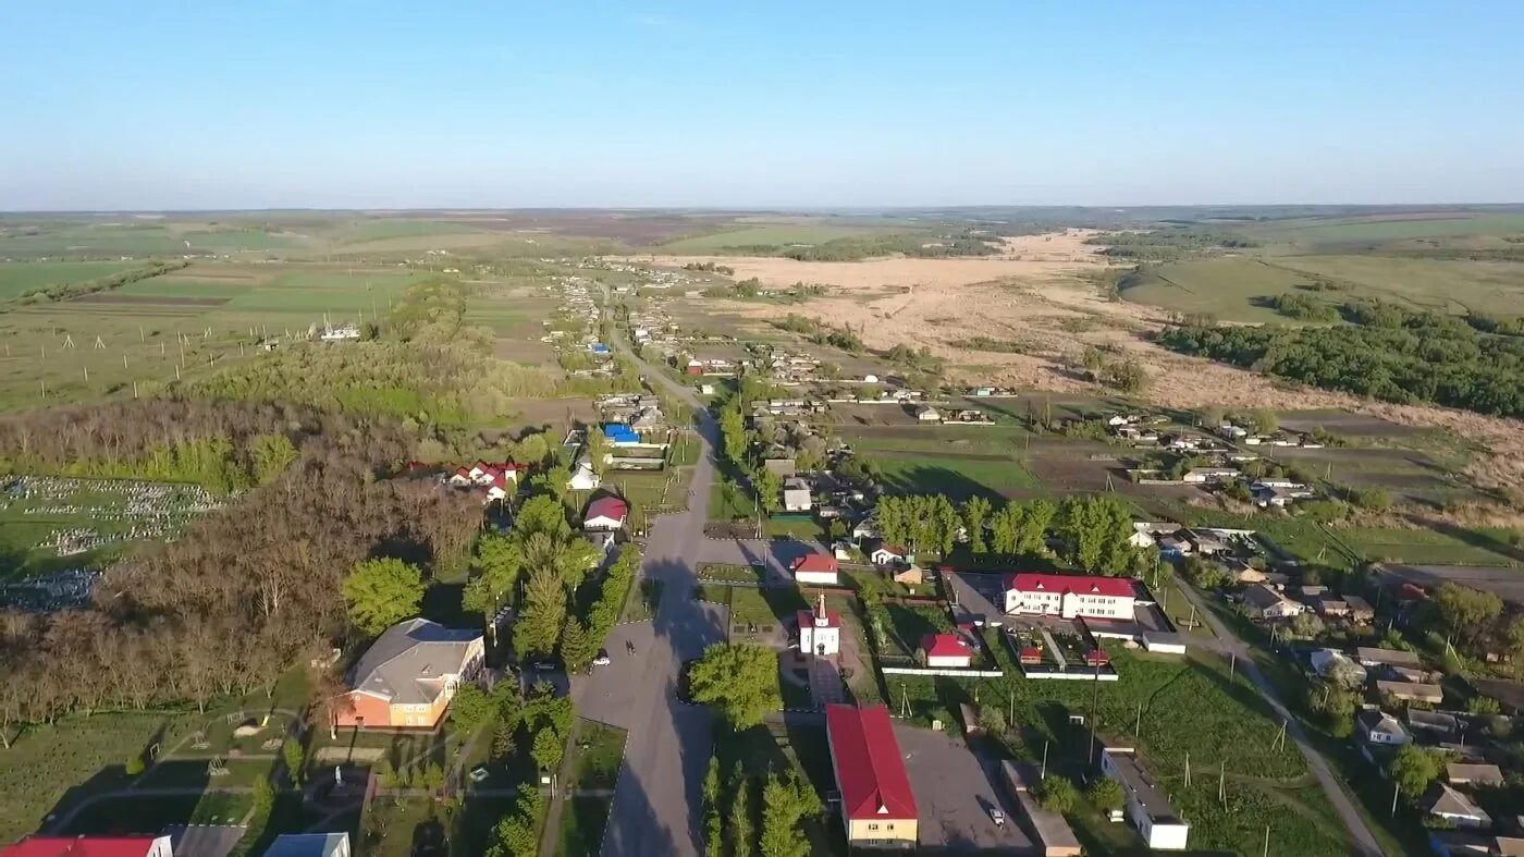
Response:
M475 500L430 479L378 477L416 442L395 424L296 407L123 403L8 419L0 454L136 461L152 447L277 428L299 450L287 470L178 541L113 566L93 607L0 615L0 735L70 712L268 692L291 663L347 633L341 581L358 561L468 558Z

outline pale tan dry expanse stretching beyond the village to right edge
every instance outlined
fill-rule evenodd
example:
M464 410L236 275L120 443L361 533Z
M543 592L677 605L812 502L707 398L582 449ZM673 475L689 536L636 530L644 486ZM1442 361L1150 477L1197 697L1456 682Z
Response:
M1524 425L1518 421L1439 407L1362 401L1335 392L1291 389L1221 363L1173 354L1148 342L1167 319L1152 307L1105 299L1091 279L1106 267L1093 233L1068 230L1010 238L1000 256L978 259L873 259L797 262L754 256L642 258L681 265L730 265L738 279L768 287L826 284L826 297L789 307L715 302L709 308L756 319L799 313L837 326L850 325L870 348L927 346L949 366L956 381L1039 390L1094 390L1077 371L1087 345L1102 345L1138 360L1148 371L1146 395L1173 407L1343 407L1407 425L1434 427L1475 439L1492 450L1468 474L1478 486L1515 491L1524 483ZM960 348L985 335L1020 342L1021 354Z

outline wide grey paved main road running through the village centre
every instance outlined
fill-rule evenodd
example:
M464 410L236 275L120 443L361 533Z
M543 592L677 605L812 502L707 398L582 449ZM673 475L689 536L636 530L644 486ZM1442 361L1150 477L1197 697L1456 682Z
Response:
M661 581L663 596L649 637L642 634L643 647L629 662L617 662L626 677L636 680L623 683L628 688L620 700L628 729L625 764L614 787L602 854L698 855L703 848L695 807L713 755L713 715L678 701L677 686L683 662L725 636L721 618L690 598L698 583L693 563L707 541L704 517L715 479L719 427L692 390L628 355L648 381L666 384L695 409L703 451L693 467L687 511L658 517L646 540L642 576ZM620 650L616 644L610 654L617 656Z

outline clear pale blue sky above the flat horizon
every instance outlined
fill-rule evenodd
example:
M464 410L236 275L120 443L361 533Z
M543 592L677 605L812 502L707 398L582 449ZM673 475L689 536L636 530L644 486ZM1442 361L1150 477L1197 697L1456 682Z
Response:
M1524 5L0 3L0 209L1524 201Z

